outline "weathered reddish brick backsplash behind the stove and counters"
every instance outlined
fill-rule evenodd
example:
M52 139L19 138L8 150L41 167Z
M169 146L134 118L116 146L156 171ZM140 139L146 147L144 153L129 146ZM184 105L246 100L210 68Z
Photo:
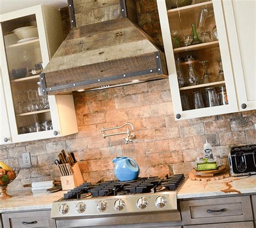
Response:
M192 162L204 154L206 139L224 162L231 146L256 141L256 111L175 121L166 79L77 93L74 100L77 134L0 146L1 160L21 168L10 188L59 179L53 161L62 149L75 151L85 181L97 182L103 177L114 178L112 158L116 156L133 157L139 164L140 176L165 176L189 172ZM125 144L123 135L102 138L102 126L124 122L134 125L133 142ZM32 167L23 167L25 151L31 155Z

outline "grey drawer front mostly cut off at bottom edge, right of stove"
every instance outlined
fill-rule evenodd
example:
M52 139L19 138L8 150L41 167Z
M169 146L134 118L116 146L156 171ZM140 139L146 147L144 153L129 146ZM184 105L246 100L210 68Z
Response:
M253 222L239 222L239 223L217 223L207 225L192 225L184 226L184 228L254 228Z

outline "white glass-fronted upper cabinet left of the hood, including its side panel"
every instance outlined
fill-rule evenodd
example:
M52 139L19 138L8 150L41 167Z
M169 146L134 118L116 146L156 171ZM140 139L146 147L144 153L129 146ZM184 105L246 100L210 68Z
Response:
M0 21L2 81L12 142L78 132L73 96L41 96L38 84L43 67L63 41L60 12L37 5L1 15Z

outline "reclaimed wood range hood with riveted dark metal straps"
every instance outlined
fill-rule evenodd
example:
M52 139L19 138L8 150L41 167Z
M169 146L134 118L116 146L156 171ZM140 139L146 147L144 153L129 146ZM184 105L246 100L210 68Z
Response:
M167 78L164 53L137 26L135 0L69 0L71 31L41 74L46 95Z

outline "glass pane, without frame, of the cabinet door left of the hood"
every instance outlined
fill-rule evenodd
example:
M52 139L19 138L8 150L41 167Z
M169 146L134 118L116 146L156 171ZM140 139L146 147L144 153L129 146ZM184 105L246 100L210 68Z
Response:
M6 20L1 26L12 98L8 105L14 106L17 134L52 130L48 96L42 96L39 85L43 59L36 15Z

